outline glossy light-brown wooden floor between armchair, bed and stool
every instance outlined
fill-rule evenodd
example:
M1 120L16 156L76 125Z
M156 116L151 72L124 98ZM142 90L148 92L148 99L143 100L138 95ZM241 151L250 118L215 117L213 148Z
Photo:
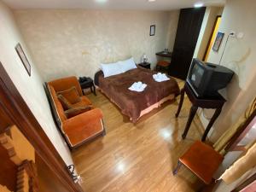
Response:
M84 191L189 192L198 188L198 179L184 167L172 176L178 157L200 140L203 132L196 116L187 138L181 138L189 116L187 98L178 119L179 96L133 125L99 91L89 97L103 111L107 135L73 151Z

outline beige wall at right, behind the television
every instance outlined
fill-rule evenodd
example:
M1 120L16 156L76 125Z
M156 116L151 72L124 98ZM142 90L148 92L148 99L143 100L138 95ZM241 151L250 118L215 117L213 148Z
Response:
M228 0L222 15L219 32L224 32L223 43L218 52L210 52L208 61L219 63L224 51L221 65L229 67L236 74L228 87L221 91L227 98L224 109L212 129L212 140L233 125L256 96L256 1ZM224 50L224 44L230 32L243 32L243 38L230 38ZM201 115L202 122L207 120Z

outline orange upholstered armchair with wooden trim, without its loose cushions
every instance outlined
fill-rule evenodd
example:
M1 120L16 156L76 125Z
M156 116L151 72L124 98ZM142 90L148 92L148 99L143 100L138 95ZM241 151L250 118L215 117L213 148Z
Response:
M81 144L94 137L105 135L105 128L102 123L102 110L99 108L92 108L72 118L67 118L64 108L58 99L57 92L68 90L73 86L78 90L80 97L80 102L74 105L76 107L91 105L90 100L86 96L83 96L79 81L76 77L56 79L46 83L55 119L70 148L79 147Z

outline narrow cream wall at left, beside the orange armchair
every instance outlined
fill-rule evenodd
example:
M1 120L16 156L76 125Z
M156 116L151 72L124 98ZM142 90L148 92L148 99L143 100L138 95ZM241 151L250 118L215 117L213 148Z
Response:
M28 76L19 56L15 52L15 45L21 44L32 67L32 75ZM61 154L67 165L73 164L66 143L57 130L50 112L49 103L44 92L43 80L32 57L26 49L26 44L16 27L15 19L9 8L0 1L0 61L9 77L13 80L20 95L31 109L39 124L44 129L50 141Z

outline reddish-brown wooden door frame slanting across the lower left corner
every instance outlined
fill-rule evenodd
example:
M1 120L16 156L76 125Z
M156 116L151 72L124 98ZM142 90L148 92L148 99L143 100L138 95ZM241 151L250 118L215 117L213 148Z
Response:
M43 86L43 84L42 84ZM63 186L70 192L83 192L79 183L74 183L67 165L61 159L49 137L45 134L38 120L32 114L26 102L20 96L15 84L6 73L3 64L0 62L0 108L18 127L26 139L32 144L38 156L44 160Z

